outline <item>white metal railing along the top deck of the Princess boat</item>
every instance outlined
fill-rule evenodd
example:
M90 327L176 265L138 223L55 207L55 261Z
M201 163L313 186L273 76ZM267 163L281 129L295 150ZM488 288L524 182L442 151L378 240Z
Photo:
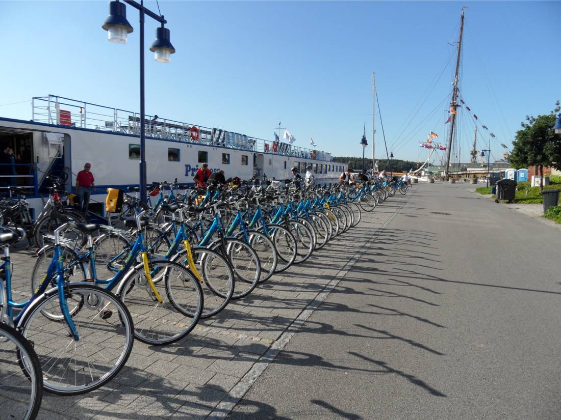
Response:
M88 128L103 132L140 135L140 114L118 108L48 95L31 99L33 121L62 126ZM266 141L219 128L203 127L180 121L145 115L146 137L180 142L201 143L252 152L274 153L302 159L332 161L330 153L294 146L284 142Z

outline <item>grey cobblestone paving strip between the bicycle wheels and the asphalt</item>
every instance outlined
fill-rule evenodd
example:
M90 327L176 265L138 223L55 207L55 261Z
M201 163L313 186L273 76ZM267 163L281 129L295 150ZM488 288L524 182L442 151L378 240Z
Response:
M358 226L315 251L307 262L275 275L219 315L201 320L180 342L156 347L136 341L127 365L107 386L78 396L45 393L39 418L223 418L327 296L330 283L338 282L414 191L363 213ZM20 246L12 250L12 259L14 298L21 300L29 295L34 252Z

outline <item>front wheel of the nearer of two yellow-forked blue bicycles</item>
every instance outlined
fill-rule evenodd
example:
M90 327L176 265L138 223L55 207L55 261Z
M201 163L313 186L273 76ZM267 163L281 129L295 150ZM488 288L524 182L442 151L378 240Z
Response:
M203 312L203 291L195 276L181 264L153 260L149 267L161 302L146 279L144 264L127 273L118 296L132 314L135 337L160 346L182 339L195 328Z

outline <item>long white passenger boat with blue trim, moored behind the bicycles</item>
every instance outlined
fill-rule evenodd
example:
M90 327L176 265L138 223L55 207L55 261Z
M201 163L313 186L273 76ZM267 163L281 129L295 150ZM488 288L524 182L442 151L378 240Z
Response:
M15 151L10 171L4 166L0 175L2 192L7 185L30 189L29 202L37 212L43 207L48 174L63 176L66 189L73 190L76 174L91 164L98 188L90 208L99 214L104 209L107 188L138 185L140 160L139 113L60 96L34 97L30 121L0 118L2 150ZM234 133L146 115L147 180L193 183L195 171L204 162L209 169L223 169L226 178L266 175L286 179L290 169L312 165L320 184L335 182L346 169L333 161L330 153L310 150L282 141ZM2 151L0 151L2 153ZM36 213L38 214L38 213Z

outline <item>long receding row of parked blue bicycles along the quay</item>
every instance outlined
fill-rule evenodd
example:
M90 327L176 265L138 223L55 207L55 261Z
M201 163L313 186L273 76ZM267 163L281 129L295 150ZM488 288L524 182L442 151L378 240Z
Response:
M17 331L0 335L10 343L8 336L22 334L43 374L33 373L38 363L22 344L11 370L2 370L11 372L0 377L2 393L17 389L8 400L28 403L21 418L33 418L40 382L59 395L106 384L127 362L134 338L154 345L180 340L200 318L217 315L356 226L365 194L378 195L366 185L297 190L250 182L166 193L162 183L154 206L125 195L122 228L51 209L31 298L19 303L12 299L10 245L25 230L3 228L0 319ZM18 371L27 393L14 385Z

